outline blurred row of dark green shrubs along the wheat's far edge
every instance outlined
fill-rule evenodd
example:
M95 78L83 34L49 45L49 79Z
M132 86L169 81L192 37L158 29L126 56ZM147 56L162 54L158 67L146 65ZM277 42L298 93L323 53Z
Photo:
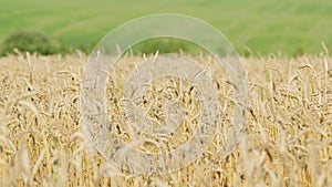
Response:
M72 54L77 50L89 54L96 42L91 42L83 44L83 41L79 45L65 45L59 39L45 34L41 31L21 30L10 34L0 45L0 56L14 53L14 49L21 52L38 53L42 55L50 54ZM328 49L328 46L325 46ZM174 38L158 38L143 41L138 44L131 46L129 49L124 49L125 53L137 54L152 54L156 51L159 53L188 53L198 54L200 52L206 52L204 49L195 43L190 43L185 40L174 39ZM263 53L252 50L248 46L237 48L239 55L241 56L261 56ZM274 53L282 56L301 56L309 54L310 51L304 46L298 46L291 53ZM269 55L269 54L267 54ZM263 55L264 56L264 55Z

